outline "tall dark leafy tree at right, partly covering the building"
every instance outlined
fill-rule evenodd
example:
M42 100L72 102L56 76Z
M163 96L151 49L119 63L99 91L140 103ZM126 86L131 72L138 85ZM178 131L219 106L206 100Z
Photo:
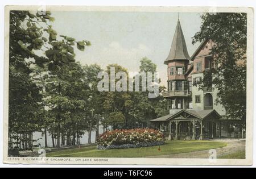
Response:
M217 103L226 109L228 118L246 119L246 41L245 13L206 13L192 43L211 40L214 69L205 70L204 79L193 85L217 90Z

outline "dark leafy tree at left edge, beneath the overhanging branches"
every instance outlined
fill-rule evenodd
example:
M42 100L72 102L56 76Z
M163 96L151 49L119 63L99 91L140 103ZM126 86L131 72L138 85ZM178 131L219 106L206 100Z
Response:
M40 101L39 88L31 77L10 66L9 147L32 149L32 132L40 130Z

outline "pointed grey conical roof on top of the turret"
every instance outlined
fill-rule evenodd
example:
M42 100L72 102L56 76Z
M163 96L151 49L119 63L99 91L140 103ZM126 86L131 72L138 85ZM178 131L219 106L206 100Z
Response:
M170 53L167 59L164 61L164 64L168 64L171 60L189 60L187 45L185 43L184 35L180 26L180 20L177 22L174 39L172 39Z

